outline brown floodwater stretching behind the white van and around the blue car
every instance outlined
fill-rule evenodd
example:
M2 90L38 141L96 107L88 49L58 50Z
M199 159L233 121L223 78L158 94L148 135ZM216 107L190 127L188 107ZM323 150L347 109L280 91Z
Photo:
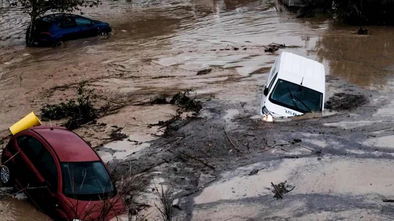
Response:
M56 91L46 97L39 91L83 80L111 98L195 87L199 94L255 102L277 57L264 52L262 45L271 42L292 46L285 50L316 59L325 64L327 74L361 87L394 86L394 27L366 27L371 35L357 35L356 27L340 26L324 16L295 18L275 0L103 0L102 6L82 11L110 23L113 34L65 42L59 48L24 48L28 17L1 1L0 131L31 109L70 96ZM221 50L232 46L240 50ZM208 67L214 70L195 75ZM135 111L130 109L130 115ZM157 116L171 114L156 111ZM125 122L127 130L156 119L140 112L132 122L125 120L127 114L107 120ZM141 142L150 139L138 136ZM46 220L25 201L4 203L10 204L0 213L1 220Z

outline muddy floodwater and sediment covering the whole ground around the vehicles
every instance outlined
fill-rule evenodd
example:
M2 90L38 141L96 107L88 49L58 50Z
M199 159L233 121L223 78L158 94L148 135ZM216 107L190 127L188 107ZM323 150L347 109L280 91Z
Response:
M132 160L117 173L131 167L171 186L181 220L392 215L380 201L392 191L392 28L366 27L372 35L357 35L357 28L326 18L297 19L276 1L104 1L84 13L109 22L109 38L23 49L22 25L11 27L9 14L20 24L25 18L7 10L0 9L0 27L11 30L0 36L0 138L28 112L76 98L78 83L87 82L97 107L120 108L75 132L110 166ZM271 42L294 47L265 52ZM262 86L283 50L325 64L329 110L261 121ZM189 88L201 102L199 114L180 114L179 103L162 99ZM353 96L344 103L332 99L338 93ZM137 105L151 98L159 99ZM252 171L258 172L249 176ZM296 188L276 201L271 182L284 180ZM154 210L153 198L139 196L151 205L143 211ZM10 220L45 220L30 204L14 201L7 201Z

